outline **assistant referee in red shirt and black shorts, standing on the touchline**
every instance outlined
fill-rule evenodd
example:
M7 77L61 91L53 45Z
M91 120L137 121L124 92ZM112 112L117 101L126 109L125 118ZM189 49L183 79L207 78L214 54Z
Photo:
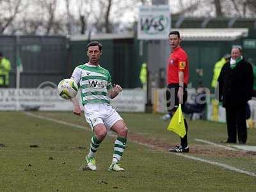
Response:
M166 106L169 113L175 113L179 104L186 102L188 98L187 85L189 79L188 56L186 52L180 47L180 33L179 31L171 31L169 33L169 44L171 47L171 54L167 63L167 89L166 89ZM188 147L188 124L184 119L186 135L180 138L180 145L170 148L170 152L189 152Z

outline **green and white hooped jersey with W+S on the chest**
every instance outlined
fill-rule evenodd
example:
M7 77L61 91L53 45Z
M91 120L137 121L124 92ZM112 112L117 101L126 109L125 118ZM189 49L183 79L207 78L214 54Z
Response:
M74 69L71 76L81 88L82 104L109 104L108 90L112 88L111 76L100 65L85 63Z

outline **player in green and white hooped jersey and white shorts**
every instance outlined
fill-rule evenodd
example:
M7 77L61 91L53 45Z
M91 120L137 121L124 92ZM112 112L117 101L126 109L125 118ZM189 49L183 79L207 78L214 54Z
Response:
M118 93L122 92L122 87L118 84L112 85L108 70L100 66L101 55L102 45L96 41L90 42L87 45L88 63L77 66L71 77L77 84L79 83L84 116L93 131L90 151L85 158L86 167L88 170L97 170L95 154L111 129L118 136L109 171L124 171L119 162L125 149L128 129L122 117L109 104L109 98L115 98ZM72 103L74 114L81 116L81 108L77 99L72 99Z

